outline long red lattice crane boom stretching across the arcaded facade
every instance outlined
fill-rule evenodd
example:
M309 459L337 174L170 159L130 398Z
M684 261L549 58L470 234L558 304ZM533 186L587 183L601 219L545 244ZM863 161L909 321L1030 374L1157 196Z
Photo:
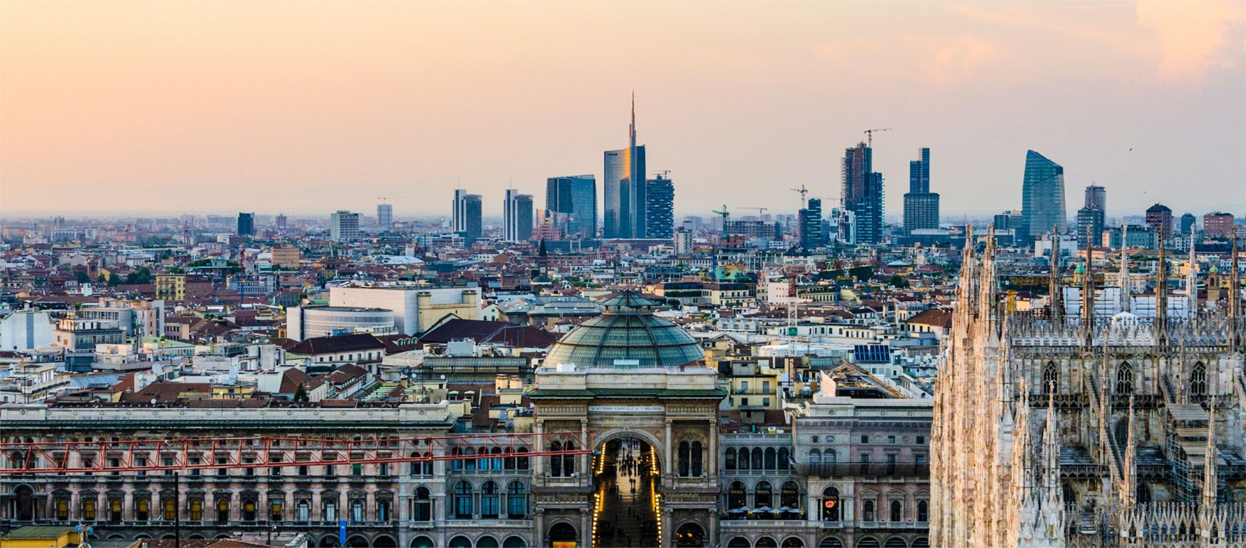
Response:
M0 476L351 466L592 453L584 432L465 433L412 438L228 437L0 443Z

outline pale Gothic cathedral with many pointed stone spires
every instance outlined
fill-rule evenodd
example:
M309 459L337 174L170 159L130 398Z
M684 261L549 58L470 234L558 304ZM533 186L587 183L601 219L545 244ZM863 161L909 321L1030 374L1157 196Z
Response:
M1095 288L1090 264L1080 288L1053 268L1050 306L1012 313L994 253L993 235L964 250L934 396L931 543L1246 546L1236 264L1225 306L1209 285L1200 310L1189 274L1170 298L1160 252L1149 316L1129 311L1128 283Z

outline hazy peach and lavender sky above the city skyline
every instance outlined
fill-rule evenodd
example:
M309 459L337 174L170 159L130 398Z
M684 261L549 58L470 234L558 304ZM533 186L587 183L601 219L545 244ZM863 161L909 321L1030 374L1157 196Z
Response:
M944 220L1020 206L1246 210L1246 2L0 1L0 214L500 215L627 144L680 214L837 202L877 133L887 215L931 147ZM736 209L735 214L746 214ZM755 213L755 212L754 212Z

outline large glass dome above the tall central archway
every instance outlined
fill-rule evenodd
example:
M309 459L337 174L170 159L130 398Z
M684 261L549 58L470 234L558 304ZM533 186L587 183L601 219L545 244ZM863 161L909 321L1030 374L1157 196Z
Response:
M635 291L604 303L606 313L577 325L546 355L548 365L675 367L705 357L688 331L653 315L658 306ZM617 361L627 360L627 361Z

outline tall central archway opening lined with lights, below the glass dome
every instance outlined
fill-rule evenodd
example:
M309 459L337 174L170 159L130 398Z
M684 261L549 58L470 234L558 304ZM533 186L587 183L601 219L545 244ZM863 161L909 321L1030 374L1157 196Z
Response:
M653 492L660 481L662 465L647 438L617 432L598 442L598 455L593 457L593 502L601 509L593 524L593 546L659 544Z

